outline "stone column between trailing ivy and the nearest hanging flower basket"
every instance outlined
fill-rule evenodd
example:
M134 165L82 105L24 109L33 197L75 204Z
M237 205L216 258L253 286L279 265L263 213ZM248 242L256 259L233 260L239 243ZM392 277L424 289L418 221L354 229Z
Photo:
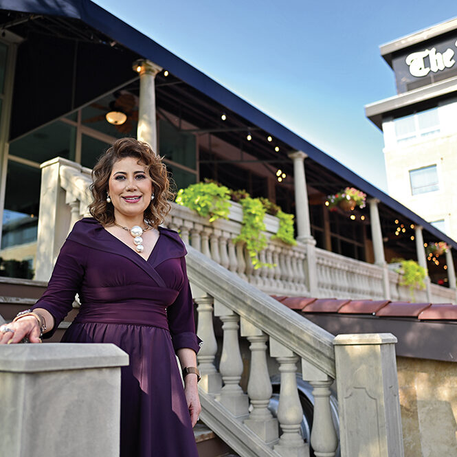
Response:
M318 290L315 239L311 236L308 190L306 189L306 176L304 174L304 159L308 156L302 151L295 151L290 153L289 157L293 160L297 240L306 245L306 286L308 287L310 295L317 297Z

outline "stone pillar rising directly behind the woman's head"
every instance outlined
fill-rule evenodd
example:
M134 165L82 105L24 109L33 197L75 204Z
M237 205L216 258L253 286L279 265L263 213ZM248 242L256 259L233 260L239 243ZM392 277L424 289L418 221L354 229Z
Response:
M140 73L140 105L138 107L137 138L158 154L157 120L155 115L155 76L162 71L151 60L137 60L133 69Z

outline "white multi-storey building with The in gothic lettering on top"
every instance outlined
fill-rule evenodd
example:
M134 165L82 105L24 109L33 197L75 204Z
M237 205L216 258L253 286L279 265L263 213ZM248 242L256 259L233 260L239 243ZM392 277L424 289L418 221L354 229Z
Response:
M457 19L381 45L397 95L366 106L390 195L457 239Z

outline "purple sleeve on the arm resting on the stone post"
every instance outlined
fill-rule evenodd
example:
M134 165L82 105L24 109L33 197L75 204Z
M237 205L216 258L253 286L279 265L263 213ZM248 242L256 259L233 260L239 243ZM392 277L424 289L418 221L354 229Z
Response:
M43 308L54 317L54 327L45 333L43 338L52 337L58 324L72 309L75 295L85 273L84 253L85 247L79 243L65 241L45 293L32 306L32 309Z

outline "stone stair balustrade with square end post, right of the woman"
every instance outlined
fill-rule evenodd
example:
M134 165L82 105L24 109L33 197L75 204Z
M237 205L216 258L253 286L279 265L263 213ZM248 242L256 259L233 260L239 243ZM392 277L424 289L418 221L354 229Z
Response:
M369 449L373 443L386 451L379 456L403 455L394 355L397 340L392 335L339 335L333 339L208 256L188 249L188 276L198 305L197 333L204 341L197 355L202 375L201 418L216 434L243 457L306 456L310 444L315 456L334 457L338 441L329 388L336 379L338 392L344 392L339 397L343 412L339 414L340 455L365 455L359 450ZM223 323L219 370L214 317ZM240 382L240 335L250 343L247 392ZM277 418L267 408L272 392L268 348L281 374ZM296 383L298 361L302 379L313 386L313 425L307 442L300 434L303 412Z

